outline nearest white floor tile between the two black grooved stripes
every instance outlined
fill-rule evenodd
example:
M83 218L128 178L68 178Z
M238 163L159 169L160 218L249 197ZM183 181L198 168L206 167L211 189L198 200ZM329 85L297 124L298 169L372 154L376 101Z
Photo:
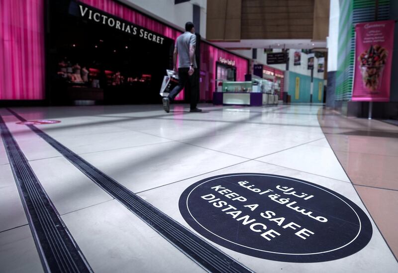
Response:
M94 272L203 272L116 200L62 219Z

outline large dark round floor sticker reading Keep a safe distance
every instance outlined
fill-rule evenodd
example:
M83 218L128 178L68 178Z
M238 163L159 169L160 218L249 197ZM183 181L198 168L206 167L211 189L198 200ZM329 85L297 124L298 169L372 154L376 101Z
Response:
M314 183L266 174L201 180L181 195L180 212L210 241L263 259L314 263L364 248L372 224L352 201Z

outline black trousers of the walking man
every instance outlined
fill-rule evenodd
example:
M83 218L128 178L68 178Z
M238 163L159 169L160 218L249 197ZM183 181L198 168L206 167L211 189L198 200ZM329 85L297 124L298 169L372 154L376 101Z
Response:
M176 86L169 94L169 98L174 100L174 98L178 95L181 90L187 87L187 90L191 90L191 109L195 109L198 105L199 101L199 89L198 89L198 69L195 69L195 72L192 76L188 75L188 71L190 69L187 68L179 68L178 69L178 86ZM189 83L189 86L187 85Z

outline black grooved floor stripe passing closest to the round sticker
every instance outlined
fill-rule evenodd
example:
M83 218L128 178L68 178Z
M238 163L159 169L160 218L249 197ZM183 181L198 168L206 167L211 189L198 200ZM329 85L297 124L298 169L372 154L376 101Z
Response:
M11 109L8 110L20 121L26 121ZM210 272L252 272L228 255L199 238L199 236L195 235L193 232L143 200L138 195L102 173L100 170L44 133L39 128L33 125L26 126L60 152L93 182L97 183L102 189L122 203L135 215L140 217L165 239L171 242L188 257L200 264L203 268Z

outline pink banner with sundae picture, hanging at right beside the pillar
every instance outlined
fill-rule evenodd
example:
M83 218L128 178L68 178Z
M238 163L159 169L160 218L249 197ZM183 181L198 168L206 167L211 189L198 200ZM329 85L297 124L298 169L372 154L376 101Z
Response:
M390 100L394 24L394 20L356 24L352 100Z

